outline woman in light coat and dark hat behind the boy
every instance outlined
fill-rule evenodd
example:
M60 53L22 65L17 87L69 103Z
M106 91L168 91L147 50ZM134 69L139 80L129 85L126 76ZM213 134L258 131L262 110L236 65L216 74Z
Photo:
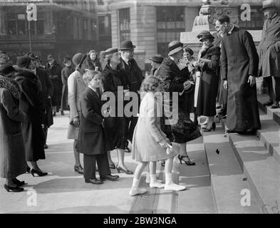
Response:
M76 145L78 142L78 128L81 120L81 104L80 100L82 93L87 88L87 85L83 81L83 74L85 73L85 68L87 66L85 59L87 54L76 53L72 62L76 66L76 71L71 73L68 78L68 104L70 107L70 122L68 125L68 139L74 140L73 150L75 157L75 172L83 174L83 167L81 166L80 153L77 152Z

